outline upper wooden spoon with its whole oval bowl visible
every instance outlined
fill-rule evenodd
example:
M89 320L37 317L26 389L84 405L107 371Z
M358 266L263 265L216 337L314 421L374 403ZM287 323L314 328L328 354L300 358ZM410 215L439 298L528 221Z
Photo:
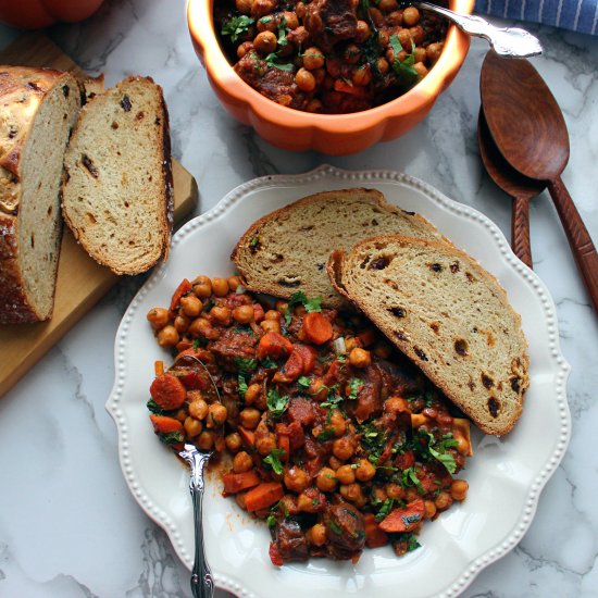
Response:
M504 159L521 174L546 180L585 286L598 312L598 253L561 173L569 161L562 112L538 72L525 59L486 54L481 75L488 128Z

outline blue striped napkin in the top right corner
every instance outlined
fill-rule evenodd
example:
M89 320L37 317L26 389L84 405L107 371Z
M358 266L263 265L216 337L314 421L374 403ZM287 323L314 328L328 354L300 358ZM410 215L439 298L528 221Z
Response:
M598 34L598 0L477 0L475 12Z

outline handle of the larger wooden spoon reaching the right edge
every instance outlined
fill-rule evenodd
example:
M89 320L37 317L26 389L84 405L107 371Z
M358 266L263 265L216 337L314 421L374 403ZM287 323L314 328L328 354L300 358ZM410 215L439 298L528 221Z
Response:
M577 208L575 208L560 176L548 184L548 190L559 212L569 245L594 304L594 310L598 313L598 253L596 247L594 247L582 216L577 212Z

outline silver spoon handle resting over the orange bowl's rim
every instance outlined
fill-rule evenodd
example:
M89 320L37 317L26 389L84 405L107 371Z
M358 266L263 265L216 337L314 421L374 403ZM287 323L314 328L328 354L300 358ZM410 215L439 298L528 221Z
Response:
M490 42L497 54L508 58L530 58L541 54L539 40L531 33L520 27L495 27L481 16L459 14L449 9L431 4L429 2L404 2L425 11L445 16L454 23L462 32L482 37Z

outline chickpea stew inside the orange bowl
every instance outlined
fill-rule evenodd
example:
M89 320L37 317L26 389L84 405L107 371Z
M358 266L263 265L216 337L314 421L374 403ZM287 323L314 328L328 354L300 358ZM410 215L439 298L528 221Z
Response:
M447 35L445 20L397 0L215 0L214 23L248 85L325 114L401 96L434 66Z

